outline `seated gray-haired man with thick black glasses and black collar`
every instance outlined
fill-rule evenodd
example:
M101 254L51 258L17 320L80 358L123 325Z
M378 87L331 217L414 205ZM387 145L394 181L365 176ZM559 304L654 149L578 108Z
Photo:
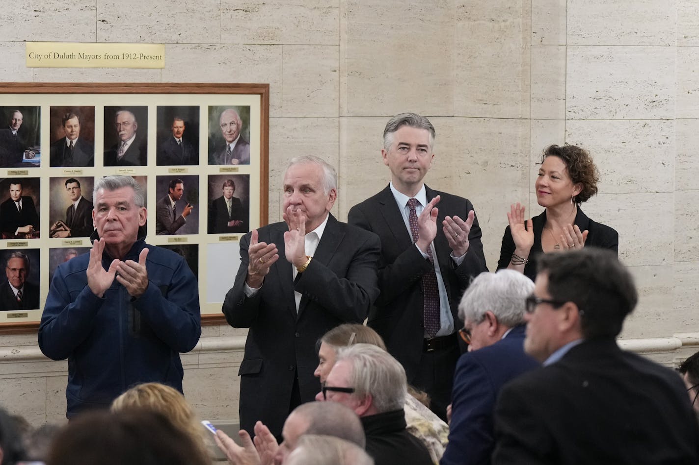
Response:
M405 429L405 369L386 350L354 344L338 350L318 401L352 408L366 434L366 452L376 465L430 465L418 438Z

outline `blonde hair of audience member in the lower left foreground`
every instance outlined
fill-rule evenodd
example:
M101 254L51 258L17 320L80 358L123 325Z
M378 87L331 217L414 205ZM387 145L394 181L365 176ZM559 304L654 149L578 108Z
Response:
M180 391L161 383L135 385L114 399L111 407L113 412L132 410L147 410L163 415L173 427L192 438L203 457L211 456L208 432Z

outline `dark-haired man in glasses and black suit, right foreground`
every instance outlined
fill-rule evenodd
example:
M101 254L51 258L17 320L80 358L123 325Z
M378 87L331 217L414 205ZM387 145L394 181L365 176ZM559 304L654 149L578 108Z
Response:
M493 464L699 463L682 379L617 345L636 302L612 251L539 258L524 350L544 367L500 390Z

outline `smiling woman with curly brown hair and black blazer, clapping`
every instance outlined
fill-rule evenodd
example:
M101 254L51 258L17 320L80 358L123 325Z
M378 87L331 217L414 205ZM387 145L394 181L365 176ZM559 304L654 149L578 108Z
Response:
M589 219L580 209L597 193L599 174L590 154L575 145L549 145L535 182L536 199L544 212L524 221L524 206L510 205L498 270L509 268L536 276L540 253L596 246L619 250L619 233Z

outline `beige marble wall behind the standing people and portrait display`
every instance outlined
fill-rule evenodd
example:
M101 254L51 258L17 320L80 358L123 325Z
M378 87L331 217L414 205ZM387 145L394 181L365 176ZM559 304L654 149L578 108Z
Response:
M284 162L303 154L338 168L333 214L345 219L389 180L387 118L420 112L438 133L426 182L473 201L493 269L510 203L540 211L542 148L582 145L602 175L584 210L619 231L640 288L624 337L699 330L696 0L34 3L0 13L2 81L268 82L270 221L281 216ZM166 68L26 68L24 40L165 43ZM202 357L185 356L187 390L211 418L234 418L240 354ZM0 370L0 392L29 399L32 419L62 413L64 366L46 369Z

